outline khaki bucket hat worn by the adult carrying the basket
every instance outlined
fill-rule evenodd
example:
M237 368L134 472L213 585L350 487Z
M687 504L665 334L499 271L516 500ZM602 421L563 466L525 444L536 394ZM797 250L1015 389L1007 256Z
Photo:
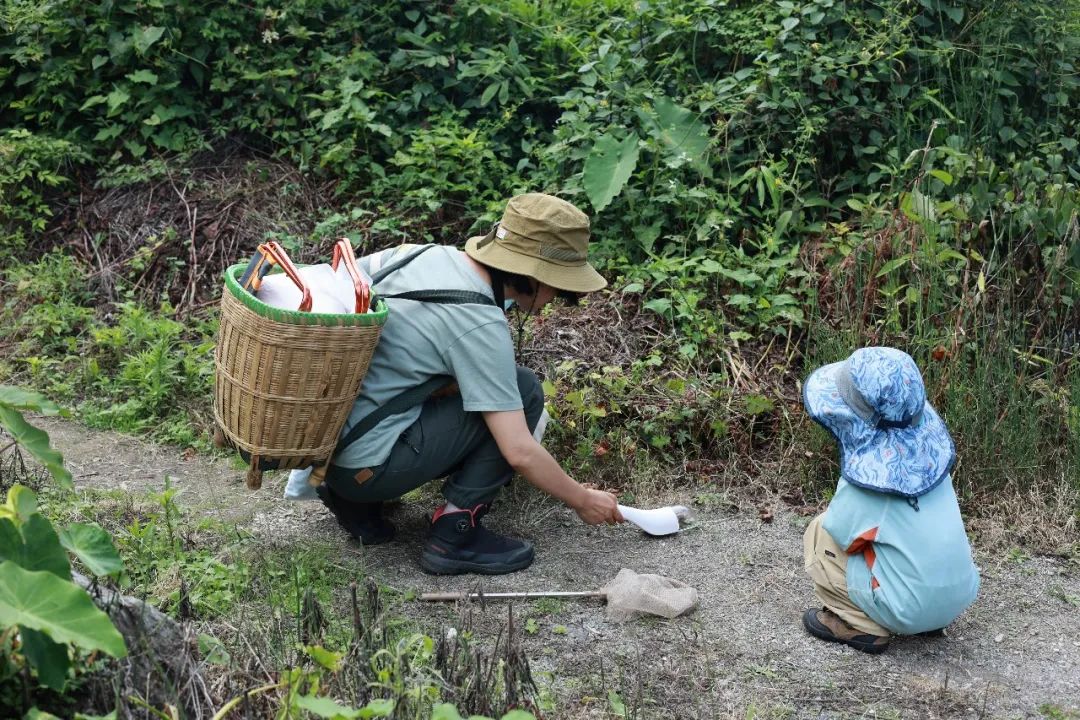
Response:
M589 264L589 216L554 195L511 198L499 225L486 235L470 237L465 253L477 262L558 290L592 293L607 286Z

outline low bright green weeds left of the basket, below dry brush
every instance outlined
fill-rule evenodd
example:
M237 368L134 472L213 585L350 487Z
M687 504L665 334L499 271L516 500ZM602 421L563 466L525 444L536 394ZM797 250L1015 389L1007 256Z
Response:
M91 424L194 444L201 429L188 408L212 390L214 324L181 324L167 304L151 312L130 300L98 312L84 272L51 253L4 273L14 293L0 309L0 337L22 351L14 378L82 400Z

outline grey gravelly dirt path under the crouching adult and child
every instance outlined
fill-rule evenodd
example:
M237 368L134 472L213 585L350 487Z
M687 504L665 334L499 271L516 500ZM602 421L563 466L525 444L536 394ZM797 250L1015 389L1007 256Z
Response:
M280 500L283 478L243 487L226 460L185 458L112 433L41 419L78 487L160 490L167 474L192 512L247 525L275 543L312 538L341 543L342 562L402 590L472 589L472 578L419 571L423 514L405 503L392 517L399 540L360 548L346 542L318 504ZM689 504L691 495L661 499ZM977 602L939 640L902 639L869 656L807 636L801 611L812 603L801 568L806 518L699 508L693 526L667 539L631 527L589 528L571 512L516 488L492 514L537 546L537 561L486 590L592 589L620 568L657 572L698 588L701 607L674 621L607 621L590 602L532 602L523 644L558 718L613 717L619 690L637 718L1080 718L1080 565L976 548L983 571ZM454 624L450 607L405 602L401 612L430 633ZM505 620L497 603L475 607L477 636ZM546 674L550 674L546 675Z

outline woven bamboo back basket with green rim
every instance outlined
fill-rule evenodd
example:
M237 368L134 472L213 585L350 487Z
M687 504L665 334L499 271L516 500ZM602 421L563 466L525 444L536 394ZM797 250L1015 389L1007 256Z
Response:
M240 452L258 489L262 471L329 460L388 311L382 300L363 314L272 308L241 287L244 268L225 273L214 419L217 443Z

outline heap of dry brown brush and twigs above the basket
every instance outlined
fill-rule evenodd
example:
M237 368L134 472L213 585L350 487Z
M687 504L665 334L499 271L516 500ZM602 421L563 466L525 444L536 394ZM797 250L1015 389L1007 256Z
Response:
M46 241L94 269L103 301L117 299L124 277L139 298L197 310L213 302L225 268L269 234L308 236L329 194L295 167L231 148L184 167L150 165L130 184L84 187Z

